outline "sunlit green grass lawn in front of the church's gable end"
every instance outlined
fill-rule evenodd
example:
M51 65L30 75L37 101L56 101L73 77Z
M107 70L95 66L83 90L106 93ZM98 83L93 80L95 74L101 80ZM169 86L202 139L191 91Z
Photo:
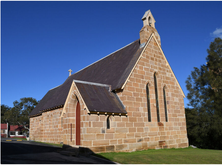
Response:
M159 149L135 152L100 153L122 164L222 164L222 150L207 149Z

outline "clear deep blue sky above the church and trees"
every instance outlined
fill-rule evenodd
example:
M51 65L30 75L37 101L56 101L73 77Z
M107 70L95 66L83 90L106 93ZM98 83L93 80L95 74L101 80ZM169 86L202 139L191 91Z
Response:
M193 67L222 37L222 2L1 2L1 104L40 100L73 73L137 40L151 10L185 95ZM188 103L184 99L185 107Z

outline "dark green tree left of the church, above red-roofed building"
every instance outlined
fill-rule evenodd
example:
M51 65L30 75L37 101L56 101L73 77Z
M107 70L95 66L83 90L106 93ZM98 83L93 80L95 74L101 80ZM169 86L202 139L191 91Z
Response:
M38 101L32 97L24 97L19 101L13 102L13 107L1 105L3 122L9 122L11 125L29 125L29 114L36 107Z

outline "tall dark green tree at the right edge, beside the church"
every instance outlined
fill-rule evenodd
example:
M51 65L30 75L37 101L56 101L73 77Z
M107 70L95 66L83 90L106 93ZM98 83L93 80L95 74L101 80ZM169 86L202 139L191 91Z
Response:
M206 65L186 81L188 138L201 148L222 149L222 39L215 38L207 52Z

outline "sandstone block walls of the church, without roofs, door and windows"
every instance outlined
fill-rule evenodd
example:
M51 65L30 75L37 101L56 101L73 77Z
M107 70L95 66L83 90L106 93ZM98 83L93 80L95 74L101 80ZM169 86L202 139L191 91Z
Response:
M154 73L157 73L160 122L157 122ZM148 121L146 85L149 83L151 122ZM168 122L165 120L163 87L166 86ZM187 147L183 94L154 38L117 93L128 117L111 116L107 129L105 115L89 115L84 101L72 84L64 109L44 112L30 119L30 138L76 146L76 105L81 108L81 147L94 152L134 151L154 148ZM60 114L63 112L62 117Z

